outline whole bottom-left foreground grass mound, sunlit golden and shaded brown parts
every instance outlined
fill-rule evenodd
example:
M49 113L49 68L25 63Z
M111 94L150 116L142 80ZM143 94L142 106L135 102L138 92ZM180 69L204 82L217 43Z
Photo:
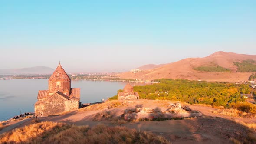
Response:
M76 126L43 122L0 135L0 143L34 144L170 144L162 136L125 127Z

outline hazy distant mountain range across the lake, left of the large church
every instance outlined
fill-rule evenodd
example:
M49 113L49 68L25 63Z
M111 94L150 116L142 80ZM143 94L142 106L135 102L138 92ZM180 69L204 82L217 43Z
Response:
M51 74L54 69L46 66L35 66L22 69L0 69L0 75L21 75L21 74Z

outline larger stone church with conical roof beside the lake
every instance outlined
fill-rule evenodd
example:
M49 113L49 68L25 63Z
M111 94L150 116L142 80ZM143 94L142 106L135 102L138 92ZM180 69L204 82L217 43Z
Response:
M35 103L37 117L76 110L81 105L80 88L71 88L71 79L59 63L49 78L48 90L39 91L37 100Z

